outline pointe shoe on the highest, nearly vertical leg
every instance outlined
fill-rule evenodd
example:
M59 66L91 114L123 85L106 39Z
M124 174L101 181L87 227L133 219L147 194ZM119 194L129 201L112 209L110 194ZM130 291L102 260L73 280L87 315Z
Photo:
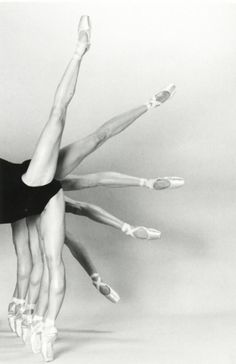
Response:
M83 15L80 18L78 26L78 45L77 53L84 55L90 48L91 40L91 23L89 16Z

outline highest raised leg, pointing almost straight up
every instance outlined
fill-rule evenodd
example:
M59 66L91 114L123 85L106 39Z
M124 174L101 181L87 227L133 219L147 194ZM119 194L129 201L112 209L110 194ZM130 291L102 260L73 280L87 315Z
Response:
M28 185L44 185L54 178L66 111L75 92L80 63L88 48L88 41L88 33L79 28L76 50L58 85L49 120L38 140L28 170L22 176Z

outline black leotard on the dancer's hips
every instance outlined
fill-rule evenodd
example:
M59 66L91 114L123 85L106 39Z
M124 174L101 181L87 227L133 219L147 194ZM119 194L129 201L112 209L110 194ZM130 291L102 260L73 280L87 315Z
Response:
M55 179L44 186L26 185L21 176L29 163L30 160L18 164L0 158L0 224L40 214L61 189L60 182Z

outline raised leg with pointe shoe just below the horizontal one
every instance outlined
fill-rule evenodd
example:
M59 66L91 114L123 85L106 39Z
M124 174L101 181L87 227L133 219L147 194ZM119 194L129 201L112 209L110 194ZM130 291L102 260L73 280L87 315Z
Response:
M146 228L145 226L132 226L127 224L99 206L87 202L75 201L67 196L65 197L65 201L66 212L86 216L91 220L121 230L133 238L153 240L161 237L160 231Z

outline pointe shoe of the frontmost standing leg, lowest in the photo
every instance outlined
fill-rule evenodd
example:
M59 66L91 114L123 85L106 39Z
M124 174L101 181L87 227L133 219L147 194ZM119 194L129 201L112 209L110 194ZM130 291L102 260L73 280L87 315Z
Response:
M57 335L58 332L55 326L44 326L41 334L41 353L46 362L54 359L53 345L57 339Z

